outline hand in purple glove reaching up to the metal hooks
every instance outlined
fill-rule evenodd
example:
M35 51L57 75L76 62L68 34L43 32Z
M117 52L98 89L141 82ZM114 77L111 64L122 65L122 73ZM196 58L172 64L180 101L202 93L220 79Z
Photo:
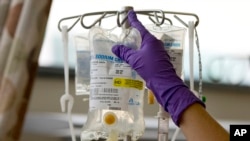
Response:
M145 80L146 86L153 91L157 101L179 126L181 114L188 106L196 102L204 107L205 105L177 76L162 41L156 39L138 21L134 11L129 11L128 20L141 34L141 48L134 50L124 45L115 45L112 51L137 71Z

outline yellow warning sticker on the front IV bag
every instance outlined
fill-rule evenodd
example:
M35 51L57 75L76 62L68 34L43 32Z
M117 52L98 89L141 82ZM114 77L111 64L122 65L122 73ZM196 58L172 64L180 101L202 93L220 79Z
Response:
M114 78L113 85L115 87L136 88L139 90L142 90L143 88L142 81L126 78Z

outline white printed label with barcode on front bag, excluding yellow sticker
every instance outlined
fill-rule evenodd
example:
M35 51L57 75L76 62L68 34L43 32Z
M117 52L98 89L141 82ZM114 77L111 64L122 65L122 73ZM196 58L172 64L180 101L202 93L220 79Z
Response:
M114 76L131 76L131 68L124 63L91 60L90 110L127 110L128 89L114 87Z

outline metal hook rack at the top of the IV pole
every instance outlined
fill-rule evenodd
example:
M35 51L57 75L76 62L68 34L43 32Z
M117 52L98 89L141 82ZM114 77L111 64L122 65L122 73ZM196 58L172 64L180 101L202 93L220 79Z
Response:
M85 13L82 15L76 15L76 16L70 16L65 17L59 20L58 22L58 30L62 31L62 23L68 20L75 20L72 25L68 26L68 32L74 28L74 26L80 21L81 26L85 29L90 29L93 26L96 26L97 24L101 25L102 21L106 18L117 16L117 26L121 27L125 21L127 20L127 15L123 16L123 19L120 20L120 15L124 15L124 13L127 13L128 10L130 10L132 7L124 7L121 11L100 11L100 12L92 12L92 13ZM127 12L126 12L127 11ZM166 21L169 22L171 25L172 20L167 18L167 15L173 15L174 18L177 19L176 15L182 15L182 16L189 16L195 18L195 27L199 24L199 17L196 14L193 13L186 13L186 12L174 12L174 11L163 11L163 10L135 10L137 15L144 15L148 16L149 20L152 21L155 25L160 26ZM90 25L86 25L84 23L84 19L89 16L98 16L99 17L94 20ZM152 18L154 17L155 20ZM160 19L160 20L159 20ZM178 19L177 19L178 20ZM180 20L178 20L180 21Z

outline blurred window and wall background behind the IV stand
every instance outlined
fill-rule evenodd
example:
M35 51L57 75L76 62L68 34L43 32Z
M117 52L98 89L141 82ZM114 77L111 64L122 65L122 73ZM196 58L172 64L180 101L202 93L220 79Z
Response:
M247 0L53 0L39 57L31 98L22 127L21 141L71 141L67 113L61 111L60 98L64 94L64 48L58 22L65 17L98 11L120 11L124 6L137 10L162 10L193 13L199 17L196 27L200 54L194 44L194 87L199 89L199 55L202 63L202 94L206 110L227 130L230 124L250 124L250 19ZM177 14L178 15L178 14ZM173 15L169 15L169 18ZM184 21L193 17L180 16ZM90 25L94 18L86 18ZM142 23L150 20L138 15ZM115 20L105 19L116 26ZM65 21L68 26L74 19ZM103 25L105 25L103 22ZM166 24L167 21L165 21ZM185 26L173 20L173 25ZM76 36L86 36L89 29L77 23L69 32L69 91L74 98L72 121L77 140L87 119L86 95L75 93ZM183 54L184 81L189 84L188 33ZM195 38L196 39L196 38ZM195 42L194 42L195 43ZM145 96L146 97L146 96ZM144 101L145 133L139 140L157 140L158 104ZM176 126L169 123L169 140ZM180 132L176 141L184 141Z

